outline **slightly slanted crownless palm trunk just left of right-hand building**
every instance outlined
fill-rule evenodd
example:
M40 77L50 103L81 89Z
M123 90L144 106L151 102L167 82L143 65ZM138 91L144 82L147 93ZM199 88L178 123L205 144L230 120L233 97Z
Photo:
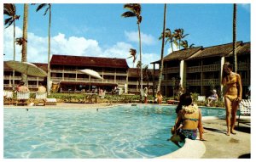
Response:
M161 63L160 63L160 71L159 71L159 81L157 92L160 91L162 75L163 75L163 68L164 68L164 49L165 49L165 37L166 37L166 4L164 10L164 25L163 25L163 38L162 38L162 48L161 48Z

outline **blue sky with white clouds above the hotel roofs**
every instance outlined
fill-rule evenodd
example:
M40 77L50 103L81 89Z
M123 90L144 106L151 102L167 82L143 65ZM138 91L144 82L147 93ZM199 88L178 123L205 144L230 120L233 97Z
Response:
M122 18L123 3L54 3L52 5L51 54L124 58L129 49L137 49L137 19ZM17 4L16 36L22 36L23 4ZM48 20L44 9L36 13L29 6L28 50L29 62L47 63ZM143 64L160 59L163 28L163 3L142 3L141 23ZM251 5L237 6L237 41L251 41ZM185 39L195 47L215 46L232 42L232 3L175 3L167 4L166 28L183 28ZM4 17L5 18L5 17ZM4 19L3 18L3 19ZM3 30L4 60L13 59L13 27ZM16 47L16 60L20 60L20 47ZM166 44L165 55L171 52ZM137 57L138 60L139 57ZM133 67L132 59L127 59ZM151 65L149 67L152 67Z

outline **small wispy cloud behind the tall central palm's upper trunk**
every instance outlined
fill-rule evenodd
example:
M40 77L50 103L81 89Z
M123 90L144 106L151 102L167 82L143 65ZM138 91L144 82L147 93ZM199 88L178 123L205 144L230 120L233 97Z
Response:
M138 31L125 31L125 36L130 42L137 42L137 43L139 42ZM156 43L154 36L147 35L141 32L141 37L142 37L142 44L152 45Z

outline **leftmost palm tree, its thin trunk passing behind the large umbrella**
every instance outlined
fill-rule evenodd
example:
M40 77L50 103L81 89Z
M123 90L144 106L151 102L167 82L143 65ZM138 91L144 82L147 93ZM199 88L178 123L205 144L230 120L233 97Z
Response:
M14 3L4 3L3 4L3 14L9 16L6 20L4 20L4 25L7 25L8 28L10 25L14 25L14 61L16 56L15 51L15 20L20 19L20 15L16 15L16 7ZM15 70L13 70L13 90L15 90Z

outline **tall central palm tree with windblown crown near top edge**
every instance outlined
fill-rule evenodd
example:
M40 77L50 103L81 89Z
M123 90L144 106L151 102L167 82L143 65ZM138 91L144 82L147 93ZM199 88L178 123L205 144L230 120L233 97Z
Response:
M139 48L140 48L140 70L141 70L141 95L143 95L143 68L142 68L142 40L141 40L141 30L140 30L140 24L143 20L143 17L141 16L142 8L141 4L139 3L127 3L124 5L124 8L128 9L129 11L126 11L124 14L122 14L122 17L130 18L130 17L137 17L137 27L138 27L138 36L139 36Z

